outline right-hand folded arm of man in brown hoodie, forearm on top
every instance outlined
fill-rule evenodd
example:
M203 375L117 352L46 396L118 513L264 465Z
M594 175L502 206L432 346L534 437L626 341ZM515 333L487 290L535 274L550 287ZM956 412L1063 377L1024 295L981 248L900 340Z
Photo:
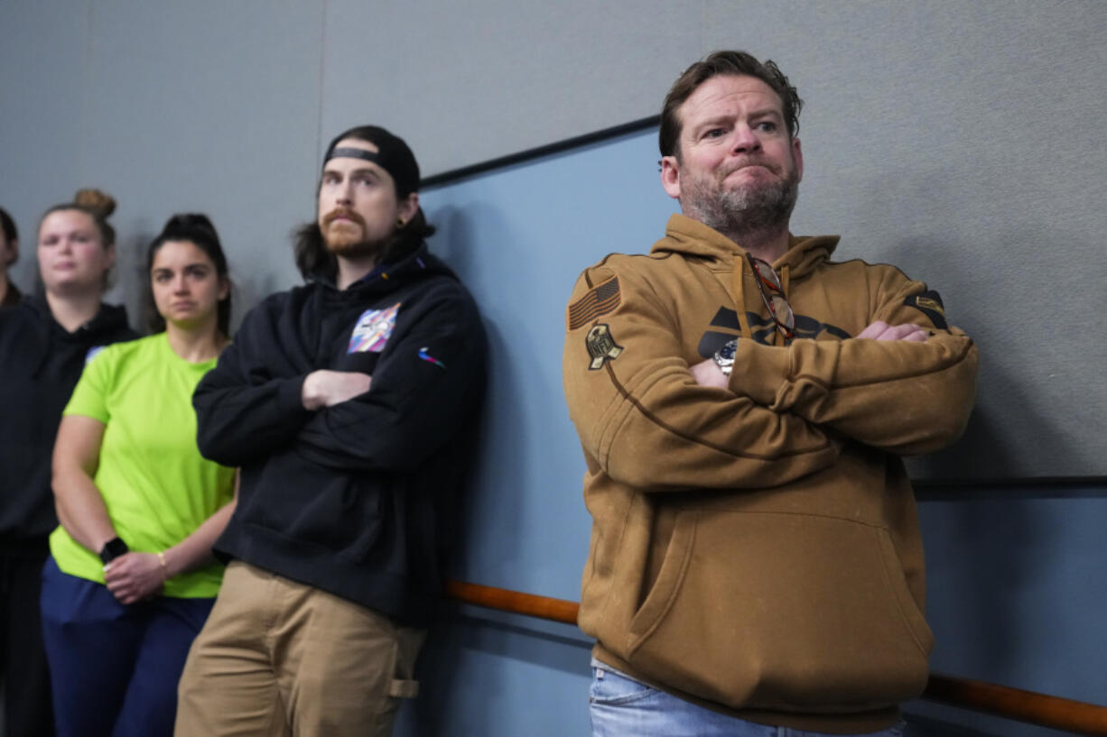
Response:
M977 353L942 314L913 307L920 299L941 307L924 284L904 280L873 322L845 341L798 340L787 347L738 341L730 387L872 447L935 450L969 419Z

